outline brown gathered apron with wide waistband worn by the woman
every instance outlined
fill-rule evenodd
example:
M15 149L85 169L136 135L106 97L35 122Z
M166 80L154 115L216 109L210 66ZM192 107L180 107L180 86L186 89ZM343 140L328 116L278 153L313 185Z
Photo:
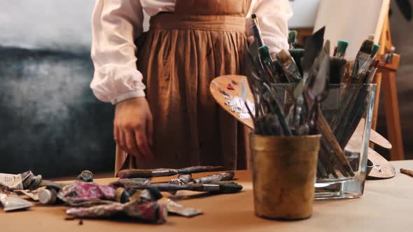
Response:
M219 75L244 73L246 13L251 0L177 0L174 13L151 17L141 36L138 69L153 113L154 160L139 162L116 148L123 168L247 165L248 129L209 93Z

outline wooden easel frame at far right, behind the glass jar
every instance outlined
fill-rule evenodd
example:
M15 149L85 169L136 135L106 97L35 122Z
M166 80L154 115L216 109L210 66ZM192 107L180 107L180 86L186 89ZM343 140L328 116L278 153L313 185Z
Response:
M392 52L393 44L391 43L390 24L388 16L384 20L383 29L379 41L381 46L379 55L385 55ZM386 125L388 140L393 145L390 150L390 159L404 159L402 131L400 126L400 113L398 108L398 96L395 84L395 72L398 70L400 63L400 55L393 54L393 57L388 64L379 66L379 70L374 78L374 83L377 84L376 97L374 102L374 112L372 119L372 129L376 129L377 115L379 112L379 97L380 92L383 92L384 111L386 113ZM381 85L383 83L383 85Z

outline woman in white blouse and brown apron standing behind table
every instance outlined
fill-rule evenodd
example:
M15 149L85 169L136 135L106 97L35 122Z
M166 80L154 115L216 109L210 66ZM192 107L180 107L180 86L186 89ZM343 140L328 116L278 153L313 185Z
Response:
M146 85L148 103L139 89L142 87L139 76L123 80L132 82L139 91L134 92L132 87L130 92L113 94L125 88L118 84L119 79L129 75L127 70L134 67L132 62L123 60L123 55L128 52L130 55L131 48L125 46L127 39L117 36L116 32L122 31L122 27L133 27L136 34L141 28L134 25L133 17L128 15L139 14L136 10L139 6L144 9L147 6L151 13L149 5L156 4L155 0L137 1L113 0L112 8L107 6L111 1L97 1L94 10L92 58L96 71L91 87L99 99L116 103L116 173L123 168L196 165L220 165L232 170L246 168L248 130L218 107L209 93L209 84L219 75L244 73L246 16L253 4L255 8L265 7L268 3L264 1L283 4L278 11L274 9L274 14L281 15L283 22L274 23L272 29L276 36L274 33L268 36L279 38L273 41L279 43L273 46L275 49L287 46L288 1L172 0L170 5L163 6L162 12L152 12L156 14L151 17L149 31L137 40L137 69ZM122 8L122 4L127 7ZM120 23L121 20L125 23ZM112 27L107 26L110 23ZM263 21L262 24L270 23ZM106 35L102 34L104 27L108 27ZM115 32L107 32L108 29ZM114 46L116 43L118 46ZM120 61L113 61L111 56ZM129 65L119 71L123 67L121 62ZM120 73L118 76L116 71ZM152 153L153 159L148 161Z

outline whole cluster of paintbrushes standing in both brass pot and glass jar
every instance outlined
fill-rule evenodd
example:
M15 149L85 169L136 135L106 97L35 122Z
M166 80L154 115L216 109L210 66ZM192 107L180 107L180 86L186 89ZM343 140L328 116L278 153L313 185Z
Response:
M330 41L324 41L323 28L307 38L304 49L296 48L297 33L292 31L288 36L290 49L271 56L256 15L252 28L255 42L246 50L246 74L255 102L255 114L250 109L255 133L263 136L321 133L318 177L338 177L336 171L345 177L353 176L343 150L365 114L363 106L369 89L363 84L372 82L379 46L374 45L372 38L366 40L351 67L344 59L349 43L338 41L330 57ZM280 96L277 89L285 88L283 84L288 83L293 84L293 89ZM333 86L330 84L341 84L337 85L340 108L332 116L325 116L321 102L330 94ZM241 93L241 98L246 98L246 94Z

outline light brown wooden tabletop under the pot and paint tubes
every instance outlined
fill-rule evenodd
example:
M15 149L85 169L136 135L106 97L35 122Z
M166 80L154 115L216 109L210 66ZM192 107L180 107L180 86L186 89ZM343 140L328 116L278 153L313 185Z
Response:
M413 169L413 161L395 161L397 170ZM316 201L314 215L297 222L277 222L254 216L251 173L237 171L244 191L232 195L199 196L183 192L182 205L199 208L204 215L191 219L171 216L167 224L85 219L65 221L66 207L36 206L22 212L1 212L1 231L411 231L413 177L398 173L390 180L370 180L362 198ZM107 184L115 179L99 179ZM157 179L157 180L165 180ZM192 194L192 195L191 195Z

